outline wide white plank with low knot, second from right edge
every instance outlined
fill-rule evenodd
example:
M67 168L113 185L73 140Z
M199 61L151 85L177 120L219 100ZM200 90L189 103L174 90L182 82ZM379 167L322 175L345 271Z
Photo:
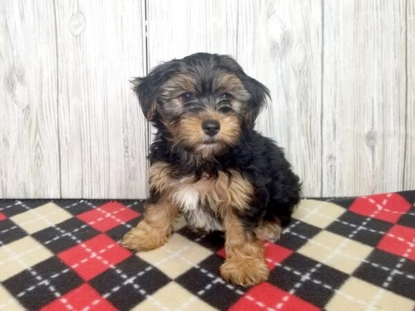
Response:
M324 1L323 196L403 189L405 0Z

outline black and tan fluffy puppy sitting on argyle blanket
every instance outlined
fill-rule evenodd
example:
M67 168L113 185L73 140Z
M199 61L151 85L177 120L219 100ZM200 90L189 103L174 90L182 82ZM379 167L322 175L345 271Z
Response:
M197 53L133 79L158 132L144 218L125 234L133 250L160 247L178 213L190 227L225 233L223 279L268 279L264 239L279 237L299 202L299 178L281 148L254 130L268 89L225 55Z

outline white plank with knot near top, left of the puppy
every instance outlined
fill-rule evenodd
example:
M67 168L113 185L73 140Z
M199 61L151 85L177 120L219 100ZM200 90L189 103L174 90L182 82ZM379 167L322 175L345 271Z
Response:
M143 1L56 1L62 197L144 198Z

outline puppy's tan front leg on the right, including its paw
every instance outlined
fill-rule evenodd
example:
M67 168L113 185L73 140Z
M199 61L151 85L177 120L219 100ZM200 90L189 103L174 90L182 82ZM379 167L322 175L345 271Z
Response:
M268 279L269 270L264 246L253 232L246 232L232 210L225 213L226 260L220 267L221 276L231 283L251 286Z

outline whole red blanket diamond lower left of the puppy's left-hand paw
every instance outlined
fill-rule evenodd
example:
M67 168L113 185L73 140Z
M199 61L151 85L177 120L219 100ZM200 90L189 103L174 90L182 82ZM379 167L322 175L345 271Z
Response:
M89 281L109 267L131 256L131 252L118 245L109 236L100 234L57 254L57 256L75 270L82 279Z

